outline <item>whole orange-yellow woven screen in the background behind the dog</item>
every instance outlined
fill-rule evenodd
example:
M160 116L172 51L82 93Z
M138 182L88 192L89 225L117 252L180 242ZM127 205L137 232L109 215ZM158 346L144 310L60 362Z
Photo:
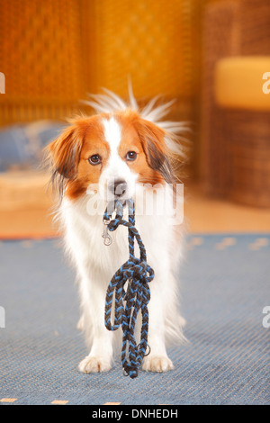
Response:
M179 100L191 119L198 92L198 0L0 0L0 126L65 118L103 87L143 102ZM194 53L195 52L195 53Z

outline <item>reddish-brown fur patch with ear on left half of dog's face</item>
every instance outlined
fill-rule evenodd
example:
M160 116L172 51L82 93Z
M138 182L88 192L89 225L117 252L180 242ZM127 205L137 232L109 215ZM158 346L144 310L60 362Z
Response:
M58 193L75 199L85 193L89 184L98 184L103 166L108 159L108 145L103 138L100 116L77 118L46 148L49 157L51 182L58 187ZM89 157L99 154L100 165L91 166ZM48 160L47 160L48 161Z

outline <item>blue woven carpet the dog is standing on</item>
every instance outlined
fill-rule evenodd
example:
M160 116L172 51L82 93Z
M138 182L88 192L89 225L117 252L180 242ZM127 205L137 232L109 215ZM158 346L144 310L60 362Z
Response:
M130 380L120 360L107 374L78 373L86 349L74 273L58 240L2 241L1 403L270 404L270 235L194 235L187 249L189 344L169 348L174 371Z

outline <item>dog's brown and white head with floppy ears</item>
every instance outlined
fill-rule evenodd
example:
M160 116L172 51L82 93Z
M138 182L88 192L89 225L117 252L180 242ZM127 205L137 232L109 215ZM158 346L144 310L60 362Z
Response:
M126 200L137 183L174 182L167 139L130 108L77 118L47 148L52 179L69 199L94 187L107 201Z

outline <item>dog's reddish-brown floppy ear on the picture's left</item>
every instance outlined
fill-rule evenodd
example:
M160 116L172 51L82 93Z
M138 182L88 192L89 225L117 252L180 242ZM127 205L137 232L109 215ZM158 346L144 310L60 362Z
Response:
M51 173L51 182L58 185L60 193L63 193L67 181L76 177L82 144L83 139L73 125L45 148L45 160Z

